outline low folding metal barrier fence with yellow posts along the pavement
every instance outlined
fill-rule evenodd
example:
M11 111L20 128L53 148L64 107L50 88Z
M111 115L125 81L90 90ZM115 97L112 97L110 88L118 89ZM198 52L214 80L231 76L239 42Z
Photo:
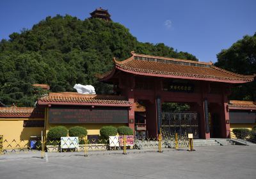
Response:
M1 144L2 141L2 144ZM44 158L45 152L80 152L84 156L93 151L113 151L127 154L127 150L153 150L162 152L163 148L188 148L187 136L166 136L159 134L156 138L134 138L134 136L110 136L109 139L86 139L85 137L65 137L61 140L49 140L43 137L33 141L3 140L0 136L1 154L11 153L41 153Z

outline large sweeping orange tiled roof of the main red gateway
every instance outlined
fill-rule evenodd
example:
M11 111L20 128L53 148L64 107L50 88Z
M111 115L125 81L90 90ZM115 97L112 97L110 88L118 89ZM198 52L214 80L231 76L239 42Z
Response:
M124 61L113 59L115 67L111 72L99 76L100 81L108 81L117 71L129 74L166 77L174 79L193 79L227 83L253 81L255 75L241 75L218 68L212 62L200 62L187 59L149 56L132 52L131 58Z

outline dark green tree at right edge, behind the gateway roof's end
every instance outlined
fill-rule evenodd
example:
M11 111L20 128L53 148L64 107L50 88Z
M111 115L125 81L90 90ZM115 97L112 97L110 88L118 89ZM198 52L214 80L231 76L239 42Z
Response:
M217 54L216 66L244 75L256 74L256 33L244 36L230 48ZM256 82L235 86L230 95L232 100L256 100Z

